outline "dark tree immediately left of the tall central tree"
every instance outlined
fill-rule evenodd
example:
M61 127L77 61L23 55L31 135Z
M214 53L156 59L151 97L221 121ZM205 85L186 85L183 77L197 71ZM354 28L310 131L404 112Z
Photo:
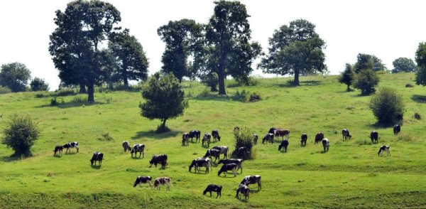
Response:
M203 26L190 19L169 21L158 28L158 36L165 42L165 51L161 61L163 73L173 73L179 82L190 73L187 59L195 52L195 46L202 39Z

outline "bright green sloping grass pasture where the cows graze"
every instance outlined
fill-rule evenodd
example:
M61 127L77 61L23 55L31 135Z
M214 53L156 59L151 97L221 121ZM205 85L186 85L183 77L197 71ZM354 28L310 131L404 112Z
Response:
M52 92L0 95L0 129L10 114L23 112L39 122L43 134L31 149L34 156L26 159L11 158L13 151L0 145L0 208L426 208L426 88L405 87L414 85L413 73L380 77L380 87L403 95L400 136L393 136L391 127L377 127L370 97L346 92L336 76L302 77L300 87L287 85L288 78L258 79L256 86L228 88L224 97L200 97L204 87L185 82L190 107L168 120L172 131L165 134L154 132L159 120L141 117L140 92L97 92L94 104L82 102L86 95L58 96L58 106L50 106ZM263 100L234 101L237 90L256 92ZM415 112L423 119L415 119ZM236 177L217 176L217 167L208 174L190 173L192 159L207 149L181 146L182 133L218 129L222 141L213 145L234 150L235 126L248 127L260 138L271 127L290 129L288 152L278 151L278 143L259 143L255 159L244 161L244 173ZM342 140L345 127L351 140ZM378 144L369 142L373 129ZM307 146L301 147L304 132ZM317 132L330 139L325 154L314 144ZM107 133L114 140L99 140ZM145 158L131 159L121 148L124 140L146 144ZM72 149L54 157L54 146L69 141L79 142L80 153ZM386 144L391 156L378 157L378 147ZM90 166L94 151L104 153L101 168ZM153 154L168 154L169 165L149 168ZM262 176L262 190L251 185L248 201L235 198L242 178L254 174ZM169 192L133 188L137 176L169 176L173 186ZM202 195L209 183L223 186L222 198Z

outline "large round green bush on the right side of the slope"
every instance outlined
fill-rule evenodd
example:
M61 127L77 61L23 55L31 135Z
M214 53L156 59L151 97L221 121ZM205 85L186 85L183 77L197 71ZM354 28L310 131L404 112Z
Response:
M369 104L374 116L380 124L393 124L403 119L403 97L391 87L382 87L376 95L373 95Z

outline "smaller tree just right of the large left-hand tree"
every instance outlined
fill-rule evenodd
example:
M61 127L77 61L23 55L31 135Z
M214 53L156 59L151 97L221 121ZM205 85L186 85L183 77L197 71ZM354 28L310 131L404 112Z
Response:
M113 33L108 48L116 58L119 69L114 72L114 81L123 80L129 87L129 80L146 80L148 77L148 58L141 43L129 35L129 29Z

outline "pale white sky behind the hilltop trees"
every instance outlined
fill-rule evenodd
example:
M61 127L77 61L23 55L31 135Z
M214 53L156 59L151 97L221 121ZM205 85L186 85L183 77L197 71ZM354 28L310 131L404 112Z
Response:
M32 77L58 88L60 79L48 52L49 36L55 30L55 11L65 11L67 0L0 1L0 65L20 62ZM108 0L121 12L119 26L129 28L146 52L149 74L160 70L165 45L157 29L182 18L207 23L214 1L207 0ZM261 43L268 53L268 38L282 25L306 19L326 44L326 65L330 74L344 70L345 63L355 63L358 53L376 55L388 69L396 58L414 60L420 42L426 42L424 9L426 1L379 0L241 0L246 5L252 41ZM260 59L256 60L258 63ZM253 75L271 77L255 70Z

